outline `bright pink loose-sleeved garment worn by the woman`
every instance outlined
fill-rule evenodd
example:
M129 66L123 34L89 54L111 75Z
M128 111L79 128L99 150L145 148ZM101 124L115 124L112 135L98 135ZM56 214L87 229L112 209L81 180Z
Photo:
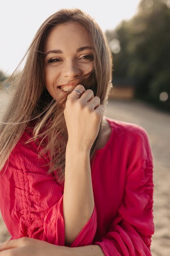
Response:
M100 245L106 256L150 256L152 152L140 126L107 118L112 133L91 162L95 207L71 247ZM0 209L11 239L28 236L64 245L63 191L38 159L38 146L25 146L24 132L0 176Z

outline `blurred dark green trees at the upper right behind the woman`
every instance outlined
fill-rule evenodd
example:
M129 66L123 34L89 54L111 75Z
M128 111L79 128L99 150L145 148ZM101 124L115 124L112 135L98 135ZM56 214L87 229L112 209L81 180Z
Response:
M136 81L136 96L170 110L170 8L168 1L141 0L136 16L106 31L111 42L120 42L113 53L114 77ZM159 100L161 92L169 98Z

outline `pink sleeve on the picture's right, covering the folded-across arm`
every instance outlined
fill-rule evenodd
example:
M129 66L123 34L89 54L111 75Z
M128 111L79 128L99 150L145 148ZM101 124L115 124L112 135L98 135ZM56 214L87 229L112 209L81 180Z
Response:
M152 153L145 131L132 140L123 201L108 233L95 243L106 256L151 256Z

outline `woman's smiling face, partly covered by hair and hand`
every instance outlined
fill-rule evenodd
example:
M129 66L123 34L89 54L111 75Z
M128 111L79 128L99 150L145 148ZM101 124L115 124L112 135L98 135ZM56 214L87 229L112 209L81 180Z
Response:
M77 22L56 25L46 38L44 52L45 85L55 100L73 90L73 79L93 70L89 36Z

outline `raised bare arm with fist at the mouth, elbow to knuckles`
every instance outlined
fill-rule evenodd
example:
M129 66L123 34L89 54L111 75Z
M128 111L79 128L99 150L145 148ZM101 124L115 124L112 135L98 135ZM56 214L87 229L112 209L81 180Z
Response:
M76 89L84 92L82 85ZM65 244L71 245L94 209L90 150L99 132L104 106L92 90L68 95L64 116L68 130L63 197Z

